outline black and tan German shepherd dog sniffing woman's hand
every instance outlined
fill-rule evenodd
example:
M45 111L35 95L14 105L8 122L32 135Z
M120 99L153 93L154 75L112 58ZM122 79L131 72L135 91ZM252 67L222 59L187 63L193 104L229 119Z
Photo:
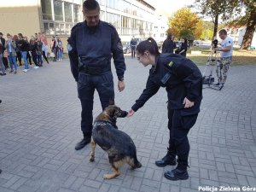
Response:
M125 163L136 169L142 166L137 160L137 151L131 137L125 132L119 131L115 125L117 118L126 117L127 112L115 106L110 102L108 108L100 113L93 125L91 136L91 154L90 161L94 161L95 148L98 144L108 153L108 160L113 167L112 174L105 174L103 178L113 178L120 175L119 167Z

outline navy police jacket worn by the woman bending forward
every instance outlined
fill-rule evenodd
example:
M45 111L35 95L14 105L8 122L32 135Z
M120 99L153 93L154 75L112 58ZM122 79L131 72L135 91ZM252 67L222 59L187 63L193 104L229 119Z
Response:
M136 112L138 108L142 108L160 87L166 87L169 110L180 109L182 115L199 113L202 99L202 75L194 62L176 54L157 56L156 65L149 70L146 88L131 107L132 110ZM195 102L192 108L184 108L185 97L190 102Z

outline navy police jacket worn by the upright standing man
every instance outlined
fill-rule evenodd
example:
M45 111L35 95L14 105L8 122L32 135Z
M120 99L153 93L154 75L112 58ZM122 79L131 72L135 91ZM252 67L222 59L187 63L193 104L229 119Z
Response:
M88 27L86 21L73 26L67 40L68 55L74 79L79 72L96 74L111 70L111 58L119 80L124 79L125 58L116 29L107 22L99 21L98 26Z

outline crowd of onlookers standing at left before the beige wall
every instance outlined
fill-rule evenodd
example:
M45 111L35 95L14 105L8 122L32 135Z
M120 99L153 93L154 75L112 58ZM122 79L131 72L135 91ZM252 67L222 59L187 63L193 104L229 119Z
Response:
M57 35L52 37L49 47L44 32L35 33L28 38L22 33L17 35L6 34L7 39L3 38L0 32L0 75L6 75L6 69L10 68L9 73L17 73L18 66L24 64L22 70L26 73L32 66L37 69L43 67L44 60L49 64L49 55L53 61L61 61L63 55L63 44ZM50 51L49 51L50 48ZM22 62L23 61L23 62Z

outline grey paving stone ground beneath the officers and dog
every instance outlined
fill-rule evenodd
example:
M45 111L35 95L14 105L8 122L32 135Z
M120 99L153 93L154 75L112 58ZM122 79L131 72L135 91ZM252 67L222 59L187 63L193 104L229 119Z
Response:
M115 84L116 103L129 110L140 96L148 69L125 58L125 90ZM200 67L201 70L204 67ZM115 70L113 70L114 72ZM107 154L90 146L74 149L82 137L80 103L68 60L0 77L1 192L193 192L256 188L256 66L230 67L224 89L204 89L201 113L189 132L189 179L169 181L165 168L154 165L168 143L166 90L152 97L131 118L119 119L119 130L137 146L143 167L104 180L112 172ZM114 74L114 82L117 83ZM95 95L94 116L101 112ZM211 188L211 189L210 189Z

